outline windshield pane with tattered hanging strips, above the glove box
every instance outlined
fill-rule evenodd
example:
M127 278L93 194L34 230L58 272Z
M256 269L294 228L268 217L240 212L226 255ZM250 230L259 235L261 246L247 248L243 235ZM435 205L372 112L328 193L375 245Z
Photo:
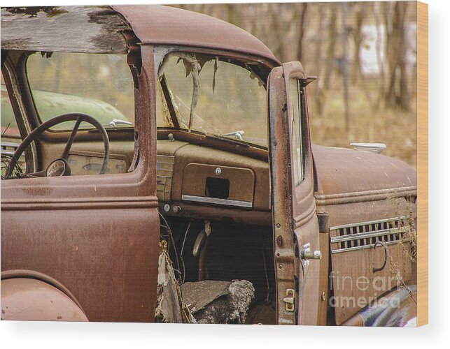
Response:
M159 77L157 126L267 147L265 82L250 64L179 52L164 58Z

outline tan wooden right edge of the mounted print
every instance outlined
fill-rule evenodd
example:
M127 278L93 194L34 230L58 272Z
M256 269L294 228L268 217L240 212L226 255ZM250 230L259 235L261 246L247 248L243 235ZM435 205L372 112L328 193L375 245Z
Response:
M417 1L417 326L428 324L428 4Z

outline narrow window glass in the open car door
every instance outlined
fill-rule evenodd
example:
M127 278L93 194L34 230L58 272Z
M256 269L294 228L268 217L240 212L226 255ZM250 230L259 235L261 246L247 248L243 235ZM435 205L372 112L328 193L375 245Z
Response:
M304 156L302 144L302 96L300 81L289 80L288 101L290 107L290 135L293 156L294 184L298 186L304 179Z

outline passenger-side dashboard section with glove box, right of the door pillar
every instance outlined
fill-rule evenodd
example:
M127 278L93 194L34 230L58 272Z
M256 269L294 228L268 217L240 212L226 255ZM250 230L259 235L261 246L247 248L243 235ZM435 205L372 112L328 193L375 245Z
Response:
M177 140L157 141L157 197L269 211L265 161Z

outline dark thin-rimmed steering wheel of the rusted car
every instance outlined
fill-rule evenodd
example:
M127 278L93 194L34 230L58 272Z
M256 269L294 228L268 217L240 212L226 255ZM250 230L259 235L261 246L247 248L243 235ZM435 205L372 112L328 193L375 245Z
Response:
M55 126L57 124L62 124L63 122L66 121L76 121L76 122L75 126L73 126L69 140L67 140L66 147L64 147L64 151L62 151L61 157L52 161L52 163L48 165L48 168L46 170L28 173L26 175L29 175L30 177L69 176L70 167L69 163L67 163L67 158L69 157L69 151L72 147L73 140L75 140L76 134L78 133L78 128L80 127L80 124L83 121L97 128L97 130L101 134L101 138L103 138L104 156L99 174L104 174L106 172L106 168L108 168L108 157L109 157L108 133L106 133L105 128L99 123L99 121L97 121L93 117L90 117L87 114L73 112L68 114L62 114L50 120L47 120L38 127L36 127L31 133L29 133L29 135L27 135L27 137L22 141L22 143L20 143L19 147L17 147L17 149L14 151L11 161L8 164L8 168L6 168L5 178L8 179L11 176L15 163L17 163L18 159L20 158L20 155L22 155L22 152L25 149L27 149L27 147L29 146L29 144L31 144L31 142L36 140L42 133L47 131L50 127Z

